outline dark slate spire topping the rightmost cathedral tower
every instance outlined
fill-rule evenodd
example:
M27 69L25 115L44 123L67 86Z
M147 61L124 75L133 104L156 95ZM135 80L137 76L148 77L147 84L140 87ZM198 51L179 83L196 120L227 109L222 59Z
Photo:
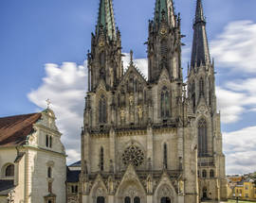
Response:
M206 32L206 19L202 0L197 0L193 24L192 67L210 63L209 44Z

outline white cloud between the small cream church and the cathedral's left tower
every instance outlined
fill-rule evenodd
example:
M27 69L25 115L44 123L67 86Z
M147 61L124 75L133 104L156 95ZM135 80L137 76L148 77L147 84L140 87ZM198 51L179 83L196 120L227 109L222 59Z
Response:
M28 93L28 98L38 107L46 108L46 98L51 100L51 108L57 117L57 125L63 133L62 141L68 155L67 162L80 160L80 133L86 87L84 66L64 62L46 64L43 84Z

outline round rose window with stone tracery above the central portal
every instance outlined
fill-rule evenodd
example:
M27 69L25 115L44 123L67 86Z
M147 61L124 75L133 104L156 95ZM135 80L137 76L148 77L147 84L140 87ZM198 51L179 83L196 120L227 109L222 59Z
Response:
M122 154L122 162L125 165L131 162L134 166L139 166L143 161L144 153L136 145L128 146Z

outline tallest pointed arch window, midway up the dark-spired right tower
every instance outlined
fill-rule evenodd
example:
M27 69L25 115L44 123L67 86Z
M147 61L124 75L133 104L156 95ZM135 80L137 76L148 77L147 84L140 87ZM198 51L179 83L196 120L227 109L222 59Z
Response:
M198 156L208 155L207 122L201 119L198 123Z

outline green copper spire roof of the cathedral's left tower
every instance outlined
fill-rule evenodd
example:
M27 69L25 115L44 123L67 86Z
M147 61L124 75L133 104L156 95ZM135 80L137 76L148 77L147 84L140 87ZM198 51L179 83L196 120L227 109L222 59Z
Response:
M116 38L116 25L112 0L101 0L96 34L100 33L101 26L111 40Z

